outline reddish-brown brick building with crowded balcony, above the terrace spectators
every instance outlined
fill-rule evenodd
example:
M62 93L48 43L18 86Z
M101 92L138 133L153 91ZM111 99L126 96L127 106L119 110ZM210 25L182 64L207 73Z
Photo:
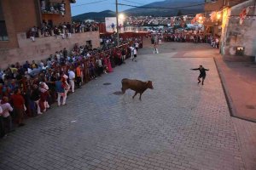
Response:
M0 48L18 48L17 34L29 31L33 26L40 27L43 22L58 25L71 22L70 3L64 0L65 14L50 12L62 0L0 0ZM45 4L45 10L42 9Z

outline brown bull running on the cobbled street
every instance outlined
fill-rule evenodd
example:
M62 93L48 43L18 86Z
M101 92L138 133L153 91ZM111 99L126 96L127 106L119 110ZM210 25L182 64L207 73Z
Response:
M124 78L122 80L122 88L121 88L123 94L125 94L125 90L129 88L135 91L135 94L132 96L132 99L134 99L134 97L137 94L140 94L140 100L142 99L142 94L144 93L145 90L147 90L148 88L154 89L151 81L142 82L140 80L131 80L128 78Z

